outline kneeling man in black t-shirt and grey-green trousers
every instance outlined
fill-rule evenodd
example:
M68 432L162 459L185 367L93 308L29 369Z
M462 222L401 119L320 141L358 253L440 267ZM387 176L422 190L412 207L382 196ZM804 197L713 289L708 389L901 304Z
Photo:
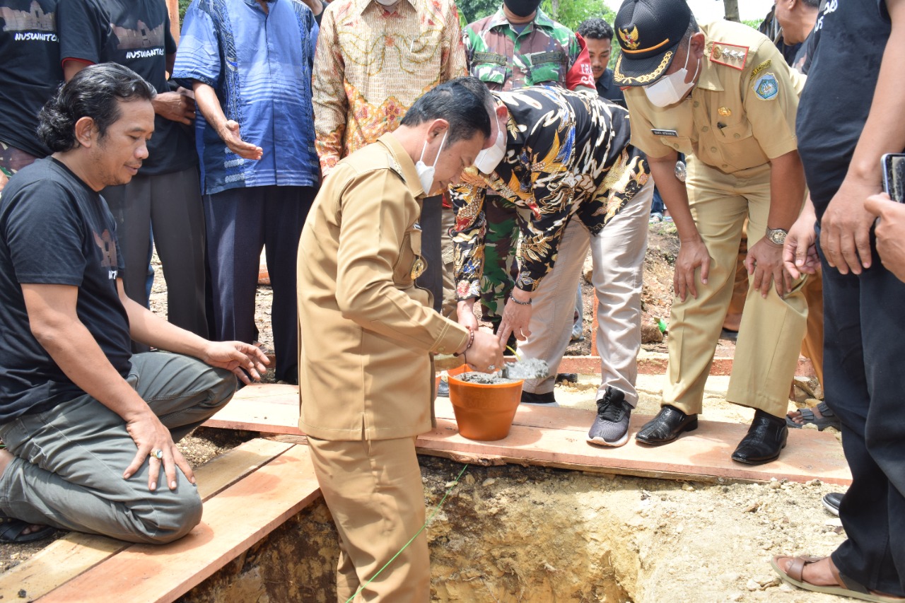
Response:
M127 184L148 157L153 97L114 63L79 73L41 113L52 156L0 195L0 541L53 528L185 535L201 499L175 442L229 401L236 376L248 383L267 362L251 344L179 329L123 290L99 191ZM129 339L174 353L133 356Z

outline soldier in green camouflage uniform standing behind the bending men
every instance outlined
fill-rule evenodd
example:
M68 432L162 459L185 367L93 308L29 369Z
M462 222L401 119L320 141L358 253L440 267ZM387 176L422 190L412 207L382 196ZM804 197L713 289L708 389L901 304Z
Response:
M595 90L591 62L584 44L563 24L539 8L540 0L503 0L495 14L465 28L469 72L493 91L534 85L556 85ZM484 207L487 235L481 310L494 330L499 327L502 303L510 297L519 227L515 206L500 196L489 196Z

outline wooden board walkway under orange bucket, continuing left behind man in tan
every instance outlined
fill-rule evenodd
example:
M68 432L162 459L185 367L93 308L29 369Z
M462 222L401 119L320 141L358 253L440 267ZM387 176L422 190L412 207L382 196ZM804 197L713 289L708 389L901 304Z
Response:
M229 429L303 435L298 427L298 388L253 385L205 425ZM748 426L720 421L699 422L696 431L665 446L637 444L634 438L619 448L586 443L594 412L576 408L519 407L510 435L497 442L477 442L459 436L452 405L438 398L437 428L417 441L418 452L478 464L537 464L581 471L641 475L698 481L768 481L771 478L808 482L820 479L847 485L852 476L842 446L828 433L790 430L779 460L757 466L729 460ZM633 415L635 433L650 416Z

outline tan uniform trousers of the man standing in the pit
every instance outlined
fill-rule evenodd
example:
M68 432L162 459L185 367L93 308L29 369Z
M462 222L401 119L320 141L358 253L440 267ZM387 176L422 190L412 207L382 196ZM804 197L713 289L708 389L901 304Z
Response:
M339 531L337 600L411 603L431 597L424 486L414 437L328 441L309 437L320 491ZM399 550L398 557L391 560Z

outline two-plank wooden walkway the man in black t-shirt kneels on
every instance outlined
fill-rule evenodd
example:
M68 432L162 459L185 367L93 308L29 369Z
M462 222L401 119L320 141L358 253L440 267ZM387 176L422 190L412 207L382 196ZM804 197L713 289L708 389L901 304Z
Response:
M0 598L172 601L319 496L307 446L291 443L246 442L195 476L205 514L185 538L149 546L71 532L0 575Z

